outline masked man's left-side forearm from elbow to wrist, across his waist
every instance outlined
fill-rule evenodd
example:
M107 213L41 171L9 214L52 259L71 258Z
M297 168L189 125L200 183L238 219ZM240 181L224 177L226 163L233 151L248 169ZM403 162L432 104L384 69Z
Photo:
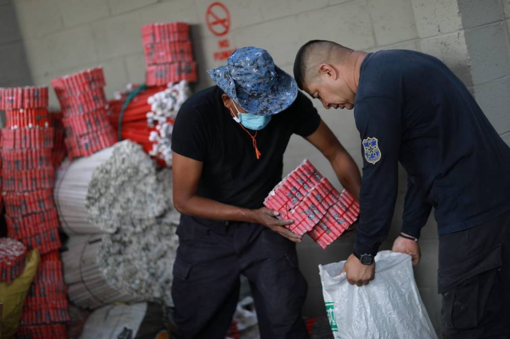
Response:
M256 222L253 210L222 204L198 195L177 199L174 204L175 209L180 213L199 218Z

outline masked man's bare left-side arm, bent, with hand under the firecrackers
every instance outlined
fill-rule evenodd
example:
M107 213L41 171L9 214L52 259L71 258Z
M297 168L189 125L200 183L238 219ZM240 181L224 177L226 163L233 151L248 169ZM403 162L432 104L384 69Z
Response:
M291 241L301 241L301 236L284 227L294 221L276 219L277 211L265 207L251 210L198 196L202 166L201 161L173 152L173 204L177 211L200 218L260 223Z

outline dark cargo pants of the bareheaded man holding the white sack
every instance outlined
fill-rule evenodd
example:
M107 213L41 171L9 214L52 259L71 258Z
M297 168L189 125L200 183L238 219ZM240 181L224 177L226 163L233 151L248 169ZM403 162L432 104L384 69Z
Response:
M510 212L439 237L444 339L510 338Z

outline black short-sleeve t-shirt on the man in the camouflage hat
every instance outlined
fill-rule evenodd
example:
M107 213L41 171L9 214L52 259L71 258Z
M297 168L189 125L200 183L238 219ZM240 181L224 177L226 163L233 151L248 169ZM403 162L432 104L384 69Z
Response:
M257 131L261 152L257 160L251 137L232 119L221 94L213 86L183 104L173 126L172 150L203 162L199 196L239 207L262 207L282 179L283 154L291 135L309 136L317 130L320 117L310 99L299 92L290 107Z

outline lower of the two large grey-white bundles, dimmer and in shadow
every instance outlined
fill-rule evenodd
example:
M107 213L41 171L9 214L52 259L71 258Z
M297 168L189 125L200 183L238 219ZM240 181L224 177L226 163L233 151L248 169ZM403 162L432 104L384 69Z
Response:
M74 236L62 253L69 299L86 308L112 302L172 305L175 225L157 218L145 232Z

